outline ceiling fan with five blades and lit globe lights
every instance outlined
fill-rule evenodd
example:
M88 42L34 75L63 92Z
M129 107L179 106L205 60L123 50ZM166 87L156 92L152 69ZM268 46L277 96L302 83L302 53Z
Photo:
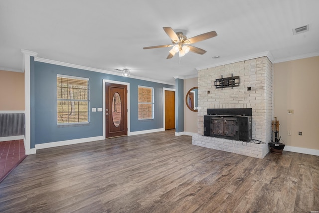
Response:
M169 54L166 59L172 58L177 52L179 54L179 57L184 56L189 51L202 55L206 52L206 50L188 44L192 44L198 41L206 40L208 38L217 36L217 33L215 31L211 31L187 39L187 37L183 35L182 32L175 32L171 27L166 26L163 27L163 29L166 32L166 34L170 37L171 42L173 44L148 46L143 47L143 49L153 49L172 46L172 49L169 51Z

